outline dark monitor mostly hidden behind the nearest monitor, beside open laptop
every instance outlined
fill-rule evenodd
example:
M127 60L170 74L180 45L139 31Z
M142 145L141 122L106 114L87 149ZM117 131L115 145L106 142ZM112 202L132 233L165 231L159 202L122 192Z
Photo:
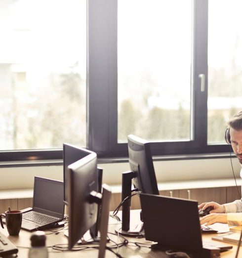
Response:
M63 178L64 178L64 201L67 202L67 169L72 163L86 157L91 151L63 143Z

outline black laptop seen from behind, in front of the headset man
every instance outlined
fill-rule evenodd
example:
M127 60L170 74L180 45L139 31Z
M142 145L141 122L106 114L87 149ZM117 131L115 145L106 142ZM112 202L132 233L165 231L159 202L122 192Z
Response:
M140 194L140 202L145 238L158 243L153 248L183 251L195 257L202 257L204 250L232 249L226 244L202 242L197 201Z

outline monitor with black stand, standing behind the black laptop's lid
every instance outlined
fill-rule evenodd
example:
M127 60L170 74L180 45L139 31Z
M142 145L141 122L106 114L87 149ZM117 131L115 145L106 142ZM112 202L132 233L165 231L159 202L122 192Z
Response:
M129 172L122 173L122 200L131 195L132 182L134 187L142 193L159 195L150 143L135 135L128 135ZM129 232L131 201L122 205L122 228L123 235L138 235Z

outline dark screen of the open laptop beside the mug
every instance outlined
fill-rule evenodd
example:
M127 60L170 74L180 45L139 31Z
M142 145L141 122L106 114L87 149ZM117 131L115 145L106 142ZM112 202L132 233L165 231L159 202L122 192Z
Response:
M35 176L33 210L46 215L63 218L64 183Z

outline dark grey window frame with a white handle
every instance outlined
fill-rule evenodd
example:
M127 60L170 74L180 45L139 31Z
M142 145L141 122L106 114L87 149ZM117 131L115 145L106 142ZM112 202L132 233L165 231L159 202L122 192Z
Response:
M190 141L151 142L153 155L228 152L226 144L207 144L208 0L193 1ZM99 158L127 157L118 143L118 0L87 0L86 148ZM94 18L93 18L94 17ZM205 76L201 91L200 74ZM0 161L62 159L62 149L0 151Z

